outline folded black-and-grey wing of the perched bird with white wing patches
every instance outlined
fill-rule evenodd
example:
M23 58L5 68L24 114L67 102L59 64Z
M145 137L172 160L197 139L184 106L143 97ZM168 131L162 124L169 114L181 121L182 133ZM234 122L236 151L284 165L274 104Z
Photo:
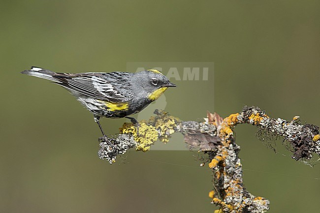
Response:
M55 78L62 83L56 83L68 90L109 102L127 102L133 96L128 81L132 73L57 73Z

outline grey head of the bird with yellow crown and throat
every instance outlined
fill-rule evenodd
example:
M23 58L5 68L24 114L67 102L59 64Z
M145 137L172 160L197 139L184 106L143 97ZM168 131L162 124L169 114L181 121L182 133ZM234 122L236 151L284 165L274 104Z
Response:
M139 90L139 93L144 93L151 101L158 99L168 87L177 87L157 69L134 73L132 80L134 85L137 85L136 89Z

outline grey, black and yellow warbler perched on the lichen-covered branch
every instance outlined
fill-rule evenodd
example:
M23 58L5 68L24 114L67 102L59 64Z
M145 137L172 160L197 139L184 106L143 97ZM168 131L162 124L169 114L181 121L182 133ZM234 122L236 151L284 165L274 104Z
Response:
M100 117L128 118L136 126L139 123L128 117L136 114L155 101L169 87L177 87L157 69L136 73L85 72L57 73L32 66L21 73L44 78L58 84L74 95L91 113L99 125L105 140L108 140L99 122Z

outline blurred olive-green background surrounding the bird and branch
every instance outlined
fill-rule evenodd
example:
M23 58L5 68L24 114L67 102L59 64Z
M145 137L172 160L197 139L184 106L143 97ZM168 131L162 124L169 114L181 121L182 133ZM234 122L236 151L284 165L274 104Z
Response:
M174 81L168 112L201 121L206 110L225 117L256 105L320 125L319 11L318 0L1 0L0 212L213 212L211 173L196 153L130 151L128 163L109 165L97 157L92 115L63 88L20 71L212 61L208 82ZM116 133L123 122L102 125ZM270 199L270 213L319 211L320 165L295 162L281 140L274 153L254 126L235 131L245 187ZM183 143L175 138L169 143Z

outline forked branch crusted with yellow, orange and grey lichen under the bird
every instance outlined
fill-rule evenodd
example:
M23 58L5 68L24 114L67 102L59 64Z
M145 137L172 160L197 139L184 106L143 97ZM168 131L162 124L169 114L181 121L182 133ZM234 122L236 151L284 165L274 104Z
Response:
M160 110L155 114L149 121L140 122L139 137L134 126L125 123L118 137L112 139L114 146L101 139L99 157L112 163L117 155L130 148L146 152L158 139L168 142L171 134L180 132L188 149L197 149L207 156L206 162L214 177L209 197L213 204L220 206L219 213L262 213L269 209L267 199L252 195L243 186L240 147L233 134L235 125L255 125L264 133L262 140L264 135L284 137L295 160L310 160L314 154L320 155L319 127L301 124L297 116L292 121L272 119L258 107L244 107L242 112L224 119L208 112L204 122L184 122Z

